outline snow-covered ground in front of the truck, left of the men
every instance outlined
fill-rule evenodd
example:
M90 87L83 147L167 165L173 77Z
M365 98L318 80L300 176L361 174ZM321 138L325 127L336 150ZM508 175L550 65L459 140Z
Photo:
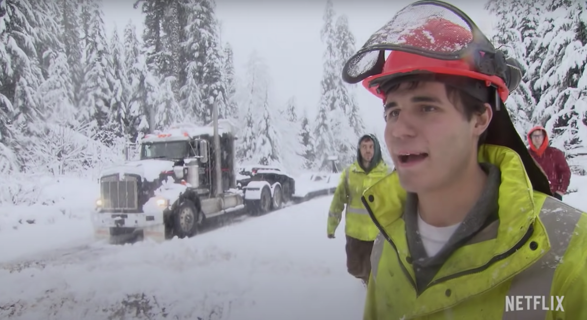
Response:
M0 318L360 319L344 226L326 238L331 199L161 244L86 242L77 222L80 243L0 260Z

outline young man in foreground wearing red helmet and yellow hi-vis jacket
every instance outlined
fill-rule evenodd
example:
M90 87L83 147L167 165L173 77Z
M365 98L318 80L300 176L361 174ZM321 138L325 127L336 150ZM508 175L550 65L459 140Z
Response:
M380 231L365 320L587 319L587 215L550 196L512 125L520 78L437 1L404 8L346 63L343 79L384 102L396 166L362 197Z

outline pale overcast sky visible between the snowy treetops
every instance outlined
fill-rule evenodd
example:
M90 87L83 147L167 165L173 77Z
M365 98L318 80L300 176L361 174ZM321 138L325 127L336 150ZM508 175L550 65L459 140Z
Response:
M139 36L143 16L133 9L135 0L103 0L107 32L122 32L132 20ZM369 36L392 18L411 0L333 0L337 15L348 16L350 30L356 38L356 49ZM447 1L463 10L485 32L491 32L494 19L484 9L486 1ZM239 76L253 50L265 58L269 66L274 96L285 103L296 96L300 108L313 117L320 94L323 46L320 39L325 0L217 0L217 16L222 22L222 42L230 42ZM362 108L367 130L383 130L381 101L363 87L357 87L357 100Z

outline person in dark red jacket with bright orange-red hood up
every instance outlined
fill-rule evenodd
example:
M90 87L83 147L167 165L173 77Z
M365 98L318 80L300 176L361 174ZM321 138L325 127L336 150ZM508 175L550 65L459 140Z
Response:
M528 151L532 158L546 173L551 183L552 194L562 200L562 195L566 193L571 181L571 169L566 163L565 154L554 147L548 146L548 134L543 127L537 126L528 132Z

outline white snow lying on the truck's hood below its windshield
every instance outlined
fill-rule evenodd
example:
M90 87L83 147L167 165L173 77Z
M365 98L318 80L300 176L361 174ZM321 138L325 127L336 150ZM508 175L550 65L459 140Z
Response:
M102 176L130 173L139 175L143 180L155 181L159 174L164 171L173 171L174 162L163 159L145 159L126 162L123 165L116 165L102 171Z

